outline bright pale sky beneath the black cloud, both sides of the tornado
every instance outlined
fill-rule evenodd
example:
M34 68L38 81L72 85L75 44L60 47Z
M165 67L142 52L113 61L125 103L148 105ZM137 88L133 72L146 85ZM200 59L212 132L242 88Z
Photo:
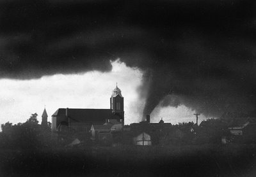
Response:
M142 73L138 68L127 67L124 62L111 62L108 73L90 71L80 74L55 74L34 80L0 80L0 124L25 122L31 113L38 113L41 122L44 106L49 115L58 108L109 108L109 97L116 82L124 96L125 124L139 122L145 104L138 94ZM193 111L185 106L179 108L157 107L152 122L163 117L165 122L195 121Z

